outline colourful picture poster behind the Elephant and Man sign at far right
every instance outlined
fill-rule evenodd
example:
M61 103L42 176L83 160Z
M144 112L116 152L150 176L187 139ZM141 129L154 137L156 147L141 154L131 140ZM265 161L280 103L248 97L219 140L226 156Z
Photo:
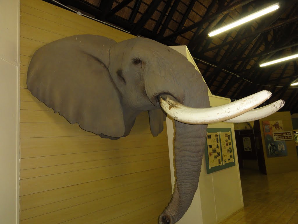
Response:
M274 141L273 135L276 132L283 132L282 121L263 121L264 137L267 157L287 156L285 141Z

